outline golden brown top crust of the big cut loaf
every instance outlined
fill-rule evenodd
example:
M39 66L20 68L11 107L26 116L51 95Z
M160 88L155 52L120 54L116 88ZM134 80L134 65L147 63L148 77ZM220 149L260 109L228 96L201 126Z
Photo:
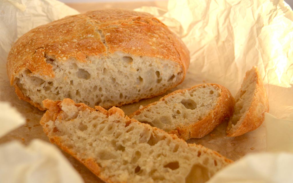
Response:
M184 72L181 82L189 66L188 49L158 19L148 13L112 9L68 16L25 33L8 54L8 78L20 99L45 110L24 96L15 82L22 71L54 78L52 65L46 63L48 56L87 62L89 56L104 57L116 51L177 62Z

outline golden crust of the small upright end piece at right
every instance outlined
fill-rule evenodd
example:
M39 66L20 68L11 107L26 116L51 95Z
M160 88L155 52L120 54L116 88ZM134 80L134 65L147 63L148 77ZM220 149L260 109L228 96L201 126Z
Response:
M253 82L256 82L253 100L240 126L236 130L229 128L229 126L227 127L226 132L229 137L240 136L257 129L265 119L265 112L269 112L268 96L263 86L263 80L259 75L257 67L253 66L252 69L254 72ZM247 75L248 72L246 72L245 77Z

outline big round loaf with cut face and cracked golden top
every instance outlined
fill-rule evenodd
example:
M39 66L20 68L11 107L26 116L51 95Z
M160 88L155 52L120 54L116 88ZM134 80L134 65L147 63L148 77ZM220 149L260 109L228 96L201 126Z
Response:
M20 99L71 98L105 108L166 92L183 81L189 52L148 13L99 10L68 16L21 36L7 72Z

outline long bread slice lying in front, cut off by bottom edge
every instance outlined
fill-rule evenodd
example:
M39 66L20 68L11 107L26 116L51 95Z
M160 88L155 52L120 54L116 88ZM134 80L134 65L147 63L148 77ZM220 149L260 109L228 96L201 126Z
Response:
M45 133L105 182L205 182L231 160L208 148L70 99L45 100Z

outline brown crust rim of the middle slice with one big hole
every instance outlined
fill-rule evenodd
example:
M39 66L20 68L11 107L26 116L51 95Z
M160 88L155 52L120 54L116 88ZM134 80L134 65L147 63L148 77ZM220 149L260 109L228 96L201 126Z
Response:
M203 136L211 132L219 124L221 124L225 118L230 117L233 114L235 101L230 91L224 86L213 83L207 83L195 85L192 88L188 88L187 90L192 90L193 88L197 88L202 85L213 85L221 89L221 96L217 101L217 104L220 105L216 105L216 108L212 110L212 112L202 120L194 121L192 124L187 126L177 127L176 130L169 131L169 134L177 135L179 138L182 138L184 140L188 140L190 138L202 138ZM185 91L186 89L176 90L172 93L169 93L168 95L165 95L159 101L164 101L166 98L169 98L172 95L176 95L177 93L183 93ZM154 102L143 107L142 109L135 111L133 114L130 115L130 118L134 115L140 114L141 111L143 111L145 108L156 104L157 102Z

